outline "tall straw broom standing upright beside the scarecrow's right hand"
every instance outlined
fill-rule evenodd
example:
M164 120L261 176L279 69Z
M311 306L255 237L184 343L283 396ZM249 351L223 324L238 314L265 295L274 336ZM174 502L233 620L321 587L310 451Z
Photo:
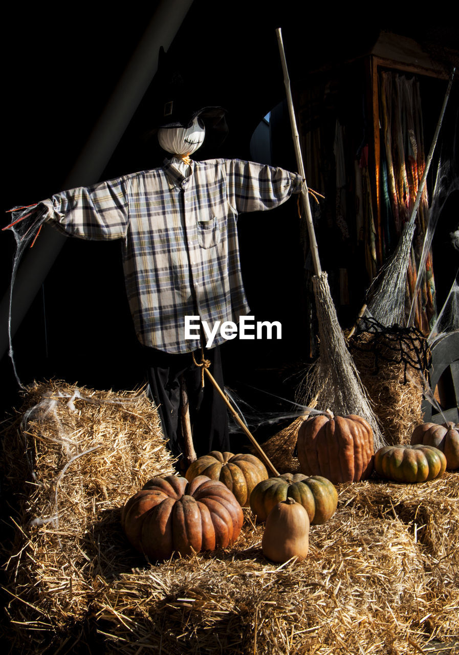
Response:
M335 305L333 305L333 299L331 298L327 273L323 272L320 266L316 234L314 233L309 205L308 187L304 179L303 157L301 155L297 121L293 109L290 79L285 60L281 30L276 29L276 34L282 60L282 69L284 71L285 92L287 94L295 156L298 172L303 178L301 201L303 212L306 216L315 272L312 282L317 309L320 350L318 360L314 363L310 373L307 375L308 386L315 396L316 406L323 407L323 409L331 407L336 415L358 414L369 422L373 428L375 449L378 449L386 445L386 442L381 434L378 419L376 419L371 409L365 388L363 388L363 384L360 381L354 360L352 360L352 356L346 346L346 341L338 322Z

